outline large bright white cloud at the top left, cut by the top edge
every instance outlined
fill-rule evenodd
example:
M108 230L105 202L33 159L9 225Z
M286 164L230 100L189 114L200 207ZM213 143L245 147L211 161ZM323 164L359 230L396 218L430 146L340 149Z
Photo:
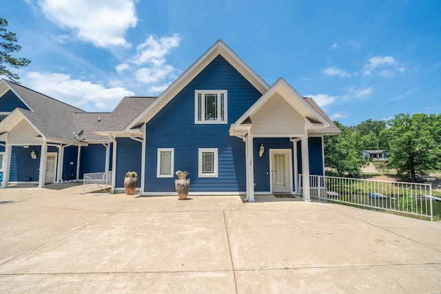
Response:
M138 21L133 0L39 0L45 17L96 47L130 47L125 31Z

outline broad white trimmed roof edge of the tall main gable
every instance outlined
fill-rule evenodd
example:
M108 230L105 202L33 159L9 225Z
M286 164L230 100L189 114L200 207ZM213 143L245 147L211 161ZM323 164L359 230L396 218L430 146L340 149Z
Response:
M263 81L256 72L254 72L239 56L236 55L223 41L218 40L207 50L199 59L193 63L176 81L174 81L167 89L158 96L156 101L144 109L141 114L136 116L134 120L127 125L125 131L136 125L148 122L152 119L167 103L169 103L178 92L193 80L209 63L211 63L218 55L230 63L249 83L251 83L261 93L267 92L269 85Z

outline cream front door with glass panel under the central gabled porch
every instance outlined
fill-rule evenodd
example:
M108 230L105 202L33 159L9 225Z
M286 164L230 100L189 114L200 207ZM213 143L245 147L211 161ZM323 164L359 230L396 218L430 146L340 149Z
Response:
M273 193L289 193L291 191L291 150L271 150L271 190Z

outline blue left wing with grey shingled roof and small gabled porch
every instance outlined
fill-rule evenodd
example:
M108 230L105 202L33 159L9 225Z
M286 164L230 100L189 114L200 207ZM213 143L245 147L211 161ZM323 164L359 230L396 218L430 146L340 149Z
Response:
M86 113L5 79L0 113L3 188L22 182L44 187L111 169L112 140L94 133L99 118L110 114ZM74 136L80 130L83 136Z

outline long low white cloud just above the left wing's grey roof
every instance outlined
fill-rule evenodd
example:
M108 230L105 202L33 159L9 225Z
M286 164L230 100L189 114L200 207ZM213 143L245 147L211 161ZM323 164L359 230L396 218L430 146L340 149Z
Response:
M22 79L32 90L86 111L112 111L124 96L134 96L134 92L123 87L105 88L90 81L72 79L70 74L28 72Z

